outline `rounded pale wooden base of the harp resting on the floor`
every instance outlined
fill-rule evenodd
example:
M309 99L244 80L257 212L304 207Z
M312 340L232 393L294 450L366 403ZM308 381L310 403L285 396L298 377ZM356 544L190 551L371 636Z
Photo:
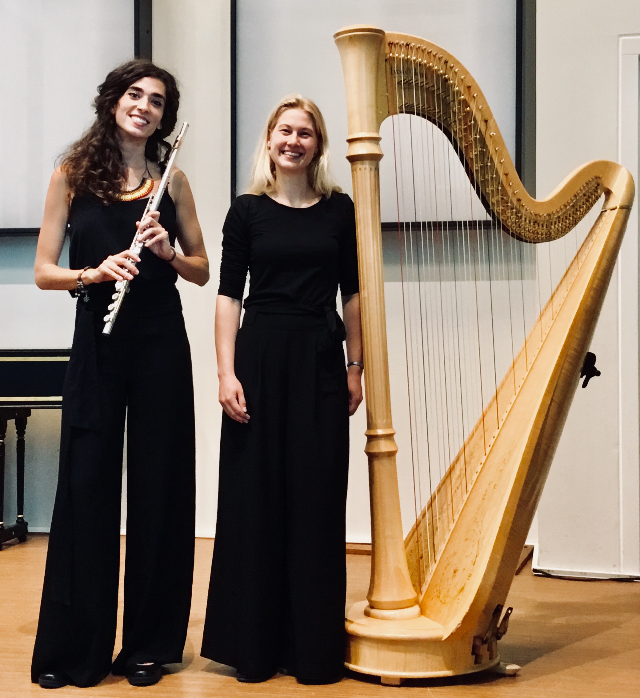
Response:
M492 669L493 658L475 664L472 634L442 637L442 625L425 616L405 621L383 621L364 613L366 601L347 613L345 667L360 674L380 676L386 685L400 685L405 678L459 676Z

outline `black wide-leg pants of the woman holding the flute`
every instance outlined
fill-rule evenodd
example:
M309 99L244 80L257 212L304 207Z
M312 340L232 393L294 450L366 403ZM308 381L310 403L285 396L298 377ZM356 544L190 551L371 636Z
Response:
M111 336L79 304L31 680L79 686L135 662L181 662L195 535L191 356L181 312L124 313ZM112 666L127 430L123 646Z

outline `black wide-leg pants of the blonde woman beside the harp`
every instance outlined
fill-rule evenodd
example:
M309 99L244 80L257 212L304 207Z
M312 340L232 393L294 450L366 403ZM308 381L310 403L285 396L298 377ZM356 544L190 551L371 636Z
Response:
M246 313L223 415L202 655L251 677L343 674L348 389L342 339L313 316Z

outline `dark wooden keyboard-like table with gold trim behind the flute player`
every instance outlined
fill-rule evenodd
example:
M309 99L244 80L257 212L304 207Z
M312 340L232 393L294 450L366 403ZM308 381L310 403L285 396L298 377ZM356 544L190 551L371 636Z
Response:
M0 350L0 550L2 544L27 540L24 520L24 437L31 410L56 410L62 406L62 385L70 349ZM15 524L4 523L6 434L9 422L16 433Z

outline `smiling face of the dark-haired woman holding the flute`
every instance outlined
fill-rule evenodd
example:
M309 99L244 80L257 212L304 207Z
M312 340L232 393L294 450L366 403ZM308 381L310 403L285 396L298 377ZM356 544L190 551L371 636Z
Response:
M165 86L155 77L136 80L121 96L113 114L121 135L149 138L161 123Z

